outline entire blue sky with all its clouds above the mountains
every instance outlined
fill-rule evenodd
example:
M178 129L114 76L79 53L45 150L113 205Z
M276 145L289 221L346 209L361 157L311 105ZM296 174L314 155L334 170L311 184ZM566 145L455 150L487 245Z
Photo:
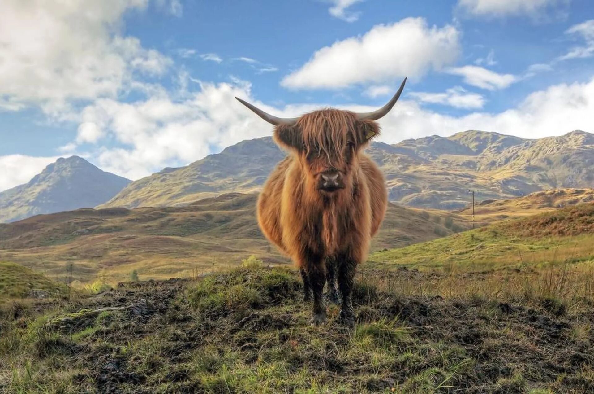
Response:
M381 140L594 132L586 0L7 0L0 190L78 154L131 179L199 160L278 115L383 105Z

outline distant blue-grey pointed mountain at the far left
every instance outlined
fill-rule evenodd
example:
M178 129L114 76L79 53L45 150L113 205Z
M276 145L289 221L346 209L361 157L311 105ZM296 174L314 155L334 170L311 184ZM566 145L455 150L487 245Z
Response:
M59 158L28 183L0 192L0 222L94 207L108 201L130 182L81 157Z

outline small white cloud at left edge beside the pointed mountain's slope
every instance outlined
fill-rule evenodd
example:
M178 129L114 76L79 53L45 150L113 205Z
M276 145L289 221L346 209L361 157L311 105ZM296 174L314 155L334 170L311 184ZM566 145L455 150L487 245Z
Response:
M0 192L27 183L58 157L0 156Z

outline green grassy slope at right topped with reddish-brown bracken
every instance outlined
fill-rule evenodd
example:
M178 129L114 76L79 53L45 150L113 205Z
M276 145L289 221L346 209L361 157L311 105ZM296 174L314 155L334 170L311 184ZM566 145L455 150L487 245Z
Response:
M386 268L482 271L594 259L594 203L491 224L442 239L376 252Z

